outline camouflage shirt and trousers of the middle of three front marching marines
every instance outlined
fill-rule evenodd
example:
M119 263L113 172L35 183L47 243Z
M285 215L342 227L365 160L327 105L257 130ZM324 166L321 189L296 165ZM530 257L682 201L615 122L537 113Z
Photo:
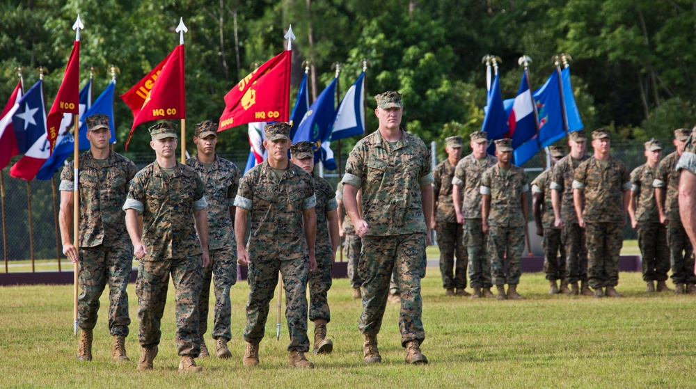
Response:
M317 205L312 176L288 162L278 180L264 161L248 170L239 182L235 206L251 219L249 299L244 340L258 344L266 332L269 303L278 285L285 288L285 318L290 333L288 351L309 351L307 338L307 280L309 252L303 232L303 211Z

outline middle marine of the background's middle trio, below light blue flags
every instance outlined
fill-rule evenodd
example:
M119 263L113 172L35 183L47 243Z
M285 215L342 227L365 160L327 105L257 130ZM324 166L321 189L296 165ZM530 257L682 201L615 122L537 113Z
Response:
M571 285L571 291L567 293L569 296L593 295L587 284L587 235L585 228L580 228L578 225L578 215L573 203L575 170L583 161L590 158L585 154L586 143L585 132L571 132L569 134L571 152L557 162L551 173L554 225L562 223L561 241L566 252L566 283ZM579 288L578 281L580 281Z

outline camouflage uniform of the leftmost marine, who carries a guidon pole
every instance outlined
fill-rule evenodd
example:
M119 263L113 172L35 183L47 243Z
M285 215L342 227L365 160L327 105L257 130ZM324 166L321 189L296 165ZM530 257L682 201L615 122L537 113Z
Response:
M61 173L61 191L73 191L73 161ZM88 151L79 157L79 279L78 326L97 324L99 298L109 285L109 333L127 336L128 294L133 267L133 246L121 206L138 169L116 152L97 160ZM71 215L72 216L72 215Z

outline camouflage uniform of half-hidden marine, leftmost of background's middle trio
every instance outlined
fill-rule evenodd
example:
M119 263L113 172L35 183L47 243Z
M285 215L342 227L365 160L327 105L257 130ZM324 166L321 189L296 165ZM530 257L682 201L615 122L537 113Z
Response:
M532 193L541 193L544 204L541 207L541 226L544 228L544 273L546 279L565 280L566 251L561 242L561 228L555 228L553 203L551 202L551 177L553 168L547 169L532 181ZM560 257L558 251L560 250Z

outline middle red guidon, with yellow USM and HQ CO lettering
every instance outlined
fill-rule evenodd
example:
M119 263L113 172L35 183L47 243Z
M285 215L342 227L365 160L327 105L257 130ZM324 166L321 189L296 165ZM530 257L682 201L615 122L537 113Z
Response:
M137 125L150 120L186 118L184 45L178 45L152 72L120 97L133 111L126 150Z

